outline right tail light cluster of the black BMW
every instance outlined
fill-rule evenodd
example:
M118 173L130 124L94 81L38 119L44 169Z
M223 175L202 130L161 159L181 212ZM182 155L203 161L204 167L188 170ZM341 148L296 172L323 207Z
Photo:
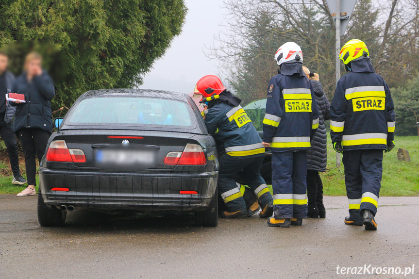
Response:
M188 143L183 152L169 152L164 163L168 165L205 165L205 153L201 146Z

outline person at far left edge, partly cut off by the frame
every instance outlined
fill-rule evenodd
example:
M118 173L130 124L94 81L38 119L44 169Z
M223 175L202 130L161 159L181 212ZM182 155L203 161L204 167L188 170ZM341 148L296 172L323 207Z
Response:
M16 135L12 129L15 107L11 106L6 98L3 98L15 82L15 76L7 70L7 63L7 55L0 52L0 135L7 148L10 166L12 167L12 183L24 185L27 181L20 175Z

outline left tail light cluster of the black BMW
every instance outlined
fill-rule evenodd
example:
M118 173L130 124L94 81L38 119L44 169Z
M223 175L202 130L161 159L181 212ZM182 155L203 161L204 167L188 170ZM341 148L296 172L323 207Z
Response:
M67 148L66 141L56 140L50 143L46 156L49 162L84 163L86 157L82 149Z

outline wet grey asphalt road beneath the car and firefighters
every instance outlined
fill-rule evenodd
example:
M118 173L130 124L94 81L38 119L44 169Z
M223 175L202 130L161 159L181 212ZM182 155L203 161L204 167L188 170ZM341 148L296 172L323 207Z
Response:
M36 197L0 195L0 278L419 278L419 197L380 198L377 231L343 224L345 197L325 205L326 219L289 229L255 217L201 228L176 214L85 212L70 213L63 228L41 228ZM365 264L366 275L336 274L338 265L364 272ZM368 274L413 264L406 277Z

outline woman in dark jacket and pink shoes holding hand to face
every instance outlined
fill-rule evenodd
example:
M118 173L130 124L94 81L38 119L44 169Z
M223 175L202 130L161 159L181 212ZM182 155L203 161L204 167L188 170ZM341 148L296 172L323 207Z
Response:
M41 68L42 58L36 52L26 56L24 72L16 79L13 92L25 95L25 102L17 100L13 131L17 133L25 153L28 187L18 197L36 195L35 157L41 161L52 133L50 100L55 95L52 79Z

